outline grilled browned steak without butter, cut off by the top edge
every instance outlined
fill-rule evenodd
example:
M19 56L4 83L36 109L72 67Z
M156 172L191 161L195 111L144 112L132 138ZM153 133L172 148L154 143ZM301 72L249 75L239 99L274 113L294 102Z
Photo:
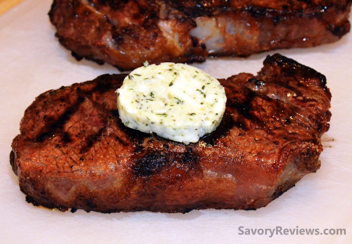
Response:
M50 20L77 59L119 69L202 62L337 41L352 0L54 0Z

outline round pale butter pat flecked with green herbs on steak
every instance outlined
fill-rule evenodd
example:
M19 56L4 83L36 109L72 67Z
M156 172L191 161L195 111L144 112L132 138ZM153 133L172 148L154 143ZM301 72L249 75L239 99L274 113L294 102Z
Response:
M125 126L185 144L214 131L225 112L224 87L186 64L145 65L116 92Z

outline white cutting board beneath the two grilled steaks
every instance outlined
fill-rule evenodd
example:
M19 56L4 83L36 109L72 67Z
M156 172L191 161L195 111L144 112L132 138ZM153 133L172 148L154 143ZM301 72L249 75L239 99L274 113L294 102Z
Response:
M326 75L332 119L322 138L321 168L268 206L257 211L101 214L63 213L26 203L8 159L24 110L46 90L119 72L71 57L54 37L47 16L50 4L26 0L0 17L0 243L352 243L351 33L334 44L277 51ZM256 73L273 53L194 65L225 78ZM344 228L346 235L239 235L240 226Z

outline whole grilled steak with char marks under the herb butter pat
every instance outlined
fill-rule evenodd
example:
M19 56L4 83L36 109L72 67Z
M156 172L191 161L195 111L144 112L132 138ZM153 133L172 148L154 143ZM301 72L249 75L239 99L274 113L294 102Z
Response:
M27 201L98 212L256 209L320 167L331 94L325 76L279 54L257 76L221 79L214 133L185 145L125 127L103 75L39 95L12 142ZM309 197L309 196L307 196Z

